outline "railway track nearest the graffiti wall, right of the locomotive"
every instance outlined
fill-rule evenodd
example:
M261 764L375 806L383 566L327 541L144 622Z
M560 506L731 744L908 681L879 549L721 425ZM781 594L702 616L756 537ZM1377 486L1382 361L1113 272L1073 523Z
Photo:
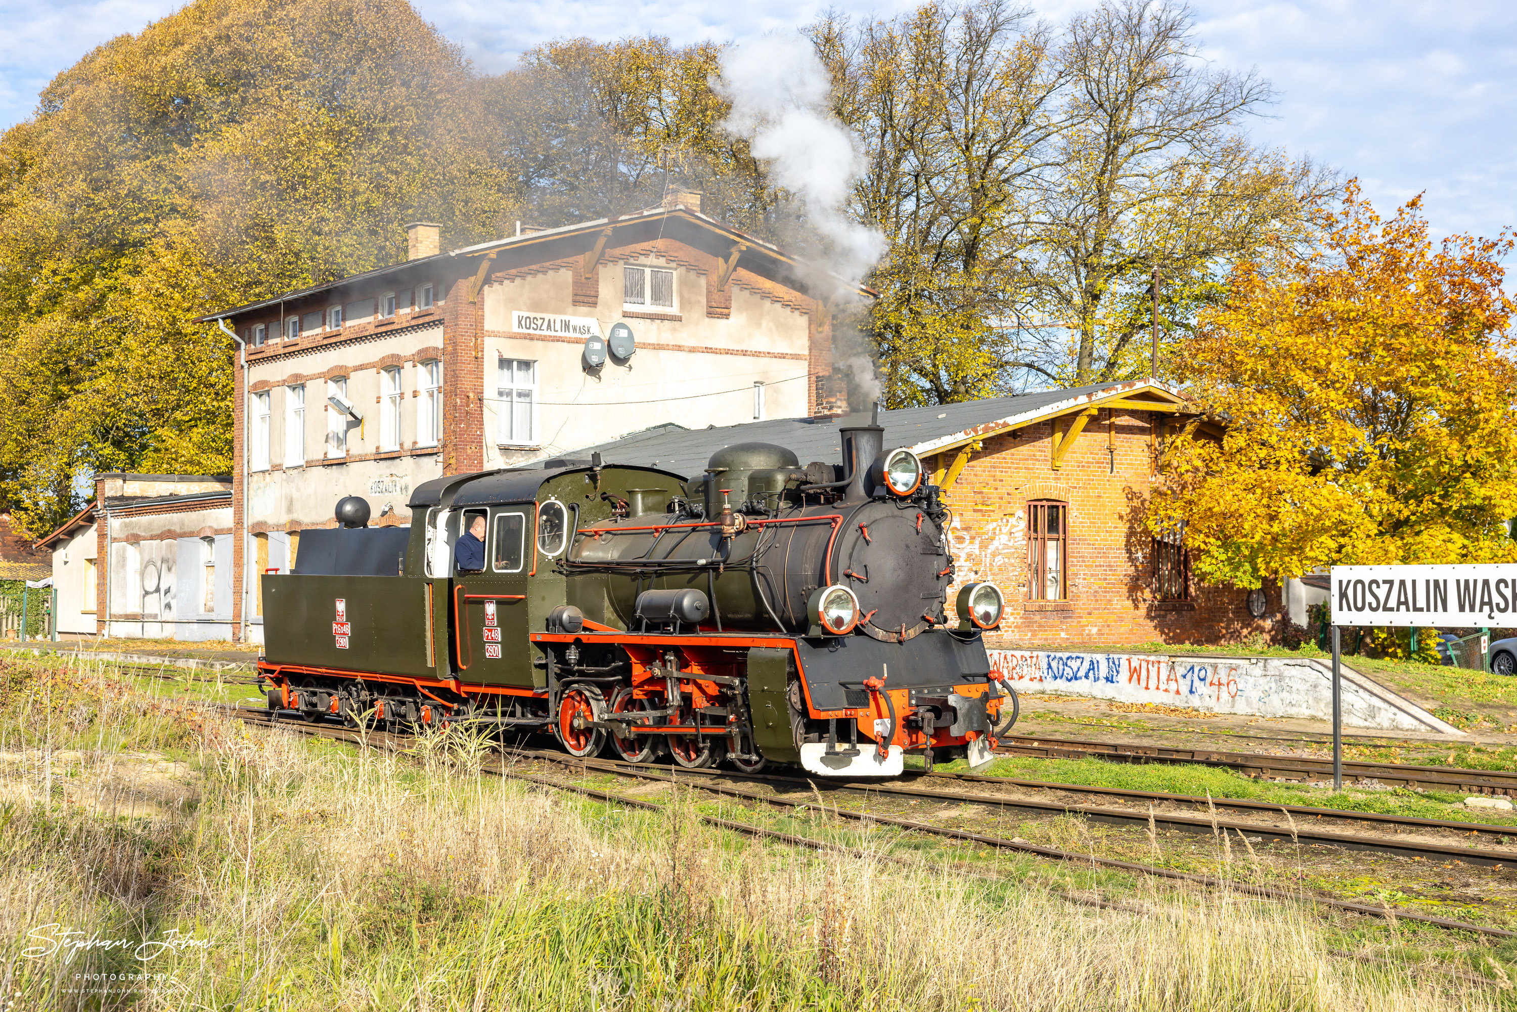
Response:
M1191 763L1236 769L1267 780L1330 780L1332 760L1311 756L1276 756L1258 753L1224 753L1209 748L1171 748L1167 745L1130 745L1086 742L1060 737L1030 737L1012 734L1001 739L1000 756L1033 756L1038 759L1109 759L1129 763ZM1377 780L1384 784L1491 794L1517 797L1517 771L1465 769L1461 766L1414 766L1409 763L1343 763L1344 777Z

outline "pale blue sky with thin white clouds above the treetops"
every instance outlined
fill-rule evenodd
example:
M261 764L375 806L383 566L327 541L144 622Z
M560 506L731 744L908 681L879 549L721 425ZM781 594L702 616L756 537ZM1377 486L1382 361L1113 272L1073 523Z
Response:
M487 70L561 35L669 35L677 42L801 24L828 6L856 17L900 0L413 0ZM0 126L30 115L47 80L108 38L171 14L173 0L0 0ZM1051 21L1089 0L1033 0ZM1517 225L1517 5L1491 0L1195 0L1218 65L1258 67L1279 94L1253 137L1359 176L1382 212L1418 191L1437 232Z

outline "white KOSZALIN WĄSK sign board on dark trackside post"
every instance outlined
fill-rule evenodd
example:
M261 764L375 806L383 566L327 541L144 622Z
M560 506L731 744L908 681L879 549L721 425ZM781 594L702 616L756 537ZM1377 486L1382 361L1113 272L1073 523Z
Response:
M1517 564L1333 566L1333 625L1517 625Z

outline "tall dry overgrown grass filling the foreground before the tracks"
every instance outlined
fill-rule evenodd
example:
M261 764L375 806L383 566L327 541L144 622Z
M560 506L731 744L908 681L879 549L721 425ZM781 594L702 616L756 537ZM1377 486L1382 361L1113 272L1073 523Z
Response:
M1305 907L1157 886L1074 906L868 828L828 824L853 850L813 854L704 827L689 800L502 783L476 743L350 753L120 683L5 686L17 1007L1496 1007L1456 977L1329 956L1341 935ZM61 929L127 948L39 953ZM170 938L191 944L137 959ZM143 970L164 977L97 979Z

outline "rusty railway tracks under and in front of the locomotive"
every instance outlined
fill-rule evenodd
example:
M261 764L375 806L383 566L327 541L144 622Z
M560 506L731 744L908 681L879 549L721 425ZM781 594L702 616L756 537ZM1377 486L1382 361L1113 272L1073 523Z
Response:
M252 721L252 722L256 722L256 724L287 727L290 730L294 730L294 731L303 733L303 734L314 734L314 736L328 737L328 739L334 739L334 740L347 740L347 742L355 742L355 743L366 743L369 746L379 746L379 748L387 748L387 750L391 750L391 751L400 751L400 750L407 748L408 743L410 743L410 740L411 740L408 736L402 736L402 734L390 734L390 733L385 733L385 731L361 733L361 731L349 730L349 728L344 728L344 727L337 727L334 724L306 724L306 722L291 722L291 721L275 721L275 719L270 719L270 715L267 712L264 712L264 710L237 709L232 713L234 713L234 716L237 716L240 719ZM1154 825L1165 825L1167 828L1177 828L1177 830L1182 830L1182 831L1218 833L1218 834L1220 833L1226 833L1226 831L1233 831L1233 833L1238 833L1239 836L1242 836L1245 839L1258 839L1261 836L1265 836L1265 838L1274 838L1274 839L1283 839L1283 841L1296 841L1296 842L1305 842L1305 844L1323 844L1323 845L1332 845L1332 847L1346 847L1346 848L1353 848L1353 850L1387 853L1387 854L1396 854L1396 856L1403 856L1403 857L1423 857L1423 859L1434 859L1434 860L1461 860L1461 862L1467 862L1467 863L1494 865L1494 866L1517 865L1517 848L1512 848L1512 850L1490 850L1490 848L1475 848L1475 847L1468 847L1468 845L1440 844L1440 842L1432 842L1432 841L1393 841L1393 839L1387 839L1387 838L1368 838L1368 836L1355 836L1355 834L1350 834L1350 833L1336 833L1336 831L1332 831L1332 830L1317 828L1315 825L1308 825L1305 828L1300 827L1300 825L1297 825L1296 827L1296 833L1292 836L1289 831L1280 831L1279 827L1274 827L1274 825L1262 825L1262 824L1258 824L1258 822L1242 822L1242 821L1238 821L1238 819L1227 819L1227 818L1218 816L1215 813L1215 810L1217 809L1223 809L1223 810L1227 810L1227 809L1236 809L1236 810L1255 809L1255 810L1258 810L1261 807L1268 807L1271 812L1273 810L1279 810L1282 815L1285 815L1285 818L1288 821L1291 821L1297 815L1300 815L1303 818L1303 821L1305 819L1314 819L1315 821L1315 819L1321 819L1321 818L1332 818L1332 819L1336 819L1336 821L1373 822L1373 824L1377 824L1377 825L1396 825L1396 827L1408 827L1408 828L1417 828L1417 830L1452 830L1452 831L1476 833L1476 834L1485 834L1485 836L1494 836L1494 838L1508 836L1508 834L1517 836L1517 830L1514 830L1512 827L1500 827L1500 825L1479 825L1479 824L1465 824L1465 822L1440 822L1440 821L1435 821L1435 819L1409 819L1409 818L1403 818L1403 816L1387 816L1387 815L1364 813L1364 812L1343 812L1343 810L1333 810L1333 809L1312 809L1312 807L1306 807L1306 806L1265 806L1264 803L1239 801L1239 800L1220 800L1218 801L1218 800L1194 798L1194 797L1188 797L1188 795L1162 795L1162 794L1157 794L1157 792L1112 790L1112 789L1106 789L1106 787L1086 787L1086 786L1079 786L1079 784L1045 784L1045 783L1041 783L1041 781L1009 781L1012 786L1021 786L1021 787L1035 786L1038 789L1047 789L1047 790L1076 790L1076 792L1088 792L1088 794L1103 794L1103 795L1121 797L1121 798L1127 798L1127 800L1135 800L1135 798L1136 800L1145 800L1145 801L1164 800L1165 803L1191 804L1191 806L1194 806L1197 803L1208 803L1209 804L1208 816L1206 818L1197 818L1197 816L1185 816L1185 815L1168 813L1168 812L1167 813L1157 813L1157 812L1150 813L1150 812L1121 810L1121 809L1101 807L1101 806L1079 806L1079 804L1068 804L1068 803L1057 803L1057 801L1039 803L1039 801L1029 800L1029 798L1012 798L1012 797L1001 795L1001 794L971 794L971 792L963 792L963 790L939 790L939 789L933 789L933 787L919 787L919 786L916 786L916 784L924 783L924 781L938 781L938 780L945 780L945 781L954 781L954 780L957 780L957 781L963 781L963 783L986 783L986 781L994 783L994 781L998 780L995 777L971 777L971 775L963 775L963 774L927 774L927 775L918 777L912 783L884 783L884 784L880 784L880 783L868 783L868 784L862 784L862 783L827 783L827 784L818 784L815 780L804 778L804 777L786 777L786 775L778 775L778 774L777 775L771 775L771 774L739 774L739 772L733 772L733 771L716 771L716 769L681 769L681 768L672 768L672 766L671 768L664 768L664 766L646 766L646 765L625 763L625 762L620 762L620 760L607 760L607 759L575 759L575 757L567 756L564 753L546 751L546 750L529 750L529 748L505 746L502 750L502 753L507 757L517 759L517 760L551 762L551 763L555 763L555 765L561 766L566 771L573 771L573 769L578 769L581 772L596 771L596 772L607 772L607 774L617 775L617 777L627 777L627 778L636 778L636 780L645 780L645 781L680 783L680 784L683 784L686 787L695 787L695 789L708 790L708 792L711 792L711 794L715 794L718 797L722 797L722 798L733 798L733 800L742 798L743 801L752 801L752 803L758 803L758 804L768 804L768 806L777 806L777 807L789 807L789 809L812 807L813 801L815 801L815 797L807 797L804 801L801 801L801 800L789 800L789 798L778 797L778 795L768 795L768 794L762 794L762 792L757 792L757 790L749 790L749 789L737 787L737 786L734 786L730 781L734 781L734 780L736 781L758 781L758 783L763 783L763 784L766 784L766 786L769 786L772 789L787 789L787 790L792 790L792 792L793 790L813 792L818 787L825 786L828 790L862 792L865 795L874 795L877 798L878 797L907 797L907 798L915 798L915 800L933 800L933 801L942 801L942 803L951 803L951 804L988 804L988 806L1001 806L1001 807L1012 807L1012 809L1030 809L1030 810L1036 810L1036 812L1042 812L1042 813L1079 813L1079 815L1085 815L1085 816L1097 819L1097 821L1107 821L1107 822L1126 822L1126 824L1144 822L1144 824L1147 824L1150 821L1150 818L1151 818ZM658 807L655 803L642 801L639 798L628 798L628 797L616 794L616 792L598 790L598 789L586 787L583 784L563 783L563 781L552 780L552 778L543 778L543 777L534 777L534 775L529 775L529 774L522 774L519 771L514 771L511 768L511 765L508 765L508 763L492 763L492 765L488 765L485 768L485 772L490 772L490 774L495 774L495 775L502 775L502 777L510 777L510 778L516 778L516 780L525 780L525 781L529 781L529 783L540 783L543 786L551 786L551 787L561 789L561 790L570 790L570 792L581 794L581 795L586 795L586 797L595 797L595 798L599 798L602 801L611 801L611 803L617 803L617 804L628 804L628 806L633 806L633 807L643 807L643 809L657 809ZM1412 919L1412 921L1418 921L1418 922L1427 922L1427 924L1438 926L1438 927L1447 927L1447 929L1475 932L1475 933L1487 935L1487 936L1517 938L1517 932L1508 932L1505 929L1496 929L1496 927L1468 924L1468 922L1464 922L1464 921L1453 921L1453 919L1449 919L1449 918L1435 918L1435 916L1414 913L1414 912L1406 912L1406 910L1391 910L1391 909L1387 909L1387 907L1374 907L1374 906L1367 906L1367 904L1359 904L1359 903L1350 903L1350 901L1344 901L1344 900L1332 900L1332 898L1326 898L1326 897L1303 895L1303 894L1299 894L1299 892L1289 892L1289 891L1283 891L1283 889L1271 889L1268 886L1253 886L1253 885L1247 885L1247 883L1238 883L1238 882L1232 882L1232 880L1215 878L1215 877L1211 877L1211 875L1197 875L1197 874L1191 874L1191 872L1173 871L1173 869L1168 869L1168 868L1156 868L1156 866L1151 866L1151 865L1141 865L1141 863L1135 863L1135 862L1124 862L1124 860L1115 860L1115 859L1106 859L1106 857L1095 857L1092 854L1074 854L1074 853L1060 851L1060 850L1051 848L1051 847L1042 847L1042 845L1038 845L1038 844L1029 844L1029 842L1019 841L1019 839L1007 839L1007 838L1001 838L1001 836L989 836L989 834L985 834L985 833L972 833L972 831L968 831L968 830L957 830L957 828L951 828L951 827L945 827L945 825L936 825L936 824L928 824L928 822L921 822L921 821L915 821L915 819L903 819L903 818L884 815L884 813L880 813L880 812L868 812L868 810L865 810L865 812L856 812L856 810L843 809L840 806L830 807L830 809L827 809L827 812L830 815L836 815L836 816L845 818L845 819L853 819L853 821L860 821L860 822L871 822L871 824L878 824L878 825L892 825L895 828L901 828L901 830L906 830L906 831L925 833L925 834L931 834L931 836L942 836L942 838L951 838L951 839L963 839L963 841L969 841L969 842L977 842L977 844L983 844L983 845L988 845L988 847L994 847L994 848L998 848L998 850L1021 851L1021 853L1035 854L1035 856L1047 857L1047 859L1053 859L1053 860L1080 862L1080 863L1085 863L1088 866L1089 865L1098 865L1098 866L1103 866L1103 868L1110 868L1113 871L1127 871L1127 872L1133 872L1133 874L1144 874L1144 875L1170 878L1170 880L1179 880L1179 882L1191 882L1191 883L1203 885L1203 886L1208 886L1208 888L1229 888L1229 889L1235 889L1238 892L1242 892L1242 894L1247 894L1247 895L1261 897L1261 898L1296 900L1296 901L1308 900L1311 903L1317 903L1317 904L1321 904L1321 906L1329 906L1329 907L1333 907L1333 909L1343 909L1343 910L1349 910L1349 912L1355 912L1355 913L1364 913L1364 915L1370 915L1370 916L1403 918L1403 919ZM813 847L813 848L827 848L827 847L831 847L830 844L825 844L822 841L812 841L812 839L806 839L806 838L796 838L793 834L777 833L777 831L772 831L772 830L765 830L762 827L752 827L752 825L742 824L742 822L733 822L730 819L718 819L716 816L702 816L702 818L704 818L704 821L707 821L711 825L718 825L718 827L722 827L722 828L730 828L730 830L740 831L740 833L745 833L745 834L749 834L749 836L772 838L772 839L777 839L777 841L781 841L781 842L787 842L787 844L793 844L793 845L806 845L806 847Z

